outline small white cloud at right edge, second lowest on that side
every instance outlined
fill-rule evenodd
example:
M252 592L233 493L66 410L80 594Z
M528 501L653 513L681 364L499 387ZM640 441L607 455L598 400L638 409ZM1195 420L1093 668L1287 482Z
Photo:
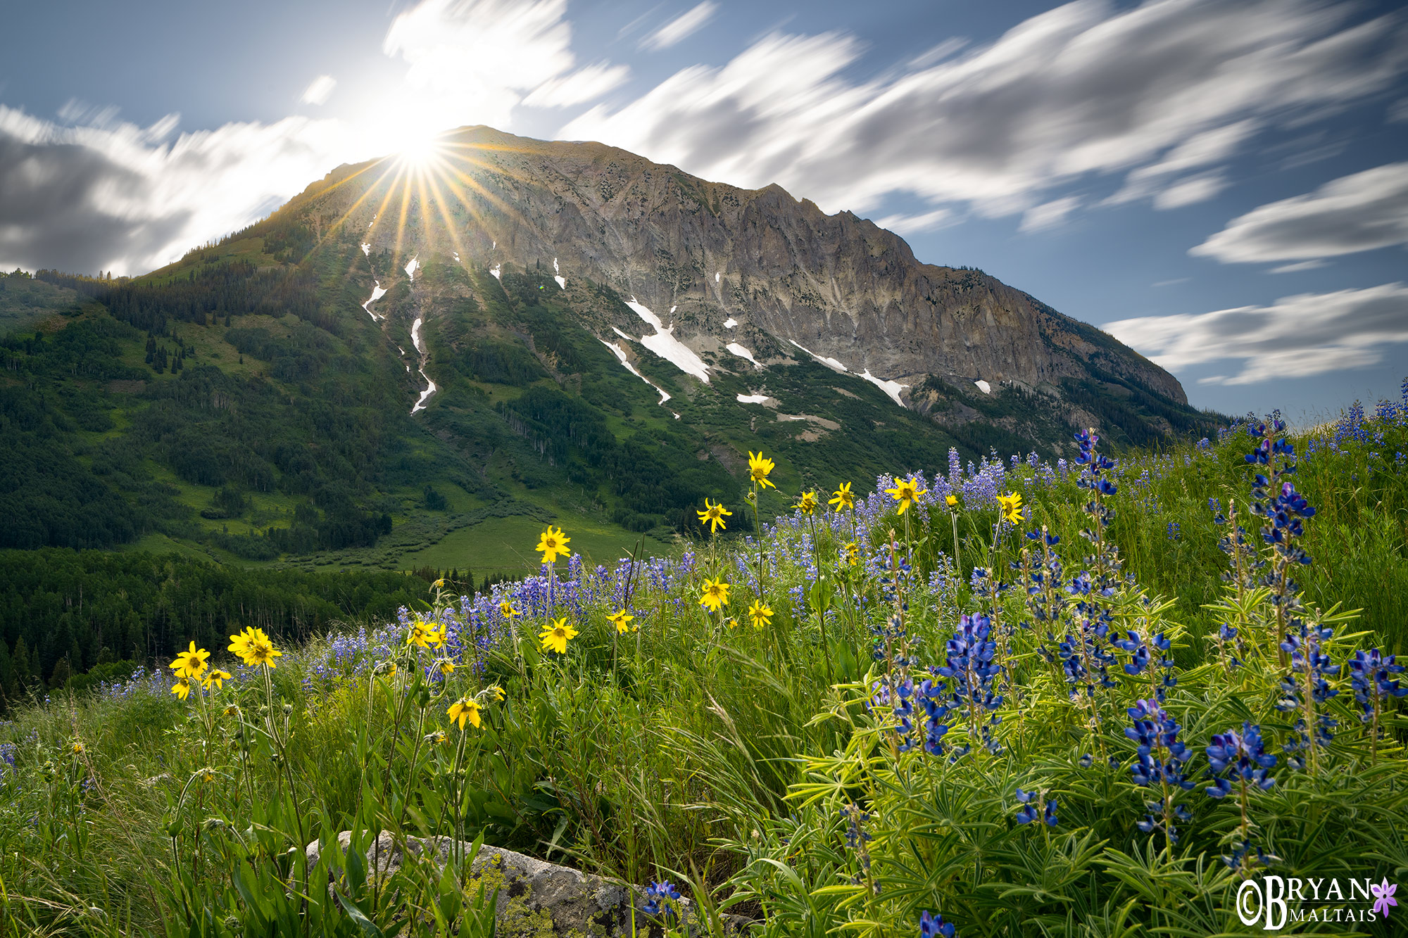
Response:
M1405 242L1408 163L1388 163L1253 208L1188 254L1257 263L1333 258Z

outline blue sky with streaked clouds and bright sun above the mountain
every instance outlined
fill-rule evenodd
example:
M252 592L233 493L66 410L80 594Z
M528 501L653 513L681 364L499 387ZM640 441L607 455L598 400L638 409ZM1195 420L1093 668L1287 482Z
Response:
M1401 4L56 0L7 11L0 268L139 273L462 124L781 183L1225 413L1408 375Z

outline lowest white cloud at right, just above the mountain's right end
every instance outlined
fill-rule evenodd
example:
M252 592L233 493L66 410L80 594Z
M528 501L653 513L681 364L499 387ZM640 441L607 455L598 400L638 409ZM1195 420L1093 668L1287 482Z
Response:
M1305 377L1384 359L1384 346L1408 342L1408 284L1301 293L1271 306L1107 323L1104 330L1170 370L1240 359L1224 384ZM1214 380L1214 379L1205 379Z

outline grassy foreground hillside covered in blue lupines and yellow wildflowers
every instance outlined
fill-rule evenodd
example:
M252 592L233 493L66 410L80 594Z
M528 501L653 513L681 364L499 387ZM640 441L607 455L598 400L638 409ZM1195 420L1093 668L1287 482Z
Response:
M724 490L728 528L670 558L441 592L272 669L211 641L232 676L187 700L161 668L37 701L0 728L8 934L489 934L465 869L307 869L341 830L667 879L769 938L1252 934L1267 875L1342 883L1302 932L1388 934L1408 394L1308 438L1087 448L908 463L903 514L855 479L760 539Z

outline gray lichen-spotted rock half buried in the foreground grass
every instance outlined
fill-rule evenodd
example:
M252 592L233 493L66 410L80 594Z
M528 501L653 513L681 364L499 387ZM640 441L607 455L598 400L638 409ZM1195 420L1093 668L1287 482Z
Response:
M338 834L338 845L345 852L352 842L352 832ZM469 844L460 842L469 852ZM406 837L396 838L383 831L366 851L366 869L372 876L390 876L406 862L407 855L444 868L455 849L449 837ZM313 841L304 853L308 868L318 862L321 844ZM498 890L494 918L497 938L545 938L549 935L572 935L582 938L627 938L631 935L631 906L639 908L645 903L645 890L605 876L594 876L558 866L524 853L498 846L480 846L474 858L472 875L491 894ZM329 887L331 889L331 887ZM690 935L705 935L708 928L697 918L691 903L681 899L683 918ZM652 928L645 915L636 913L636 934L663 934ZM725 928L731 934L742 934L748 920L725 915Z

